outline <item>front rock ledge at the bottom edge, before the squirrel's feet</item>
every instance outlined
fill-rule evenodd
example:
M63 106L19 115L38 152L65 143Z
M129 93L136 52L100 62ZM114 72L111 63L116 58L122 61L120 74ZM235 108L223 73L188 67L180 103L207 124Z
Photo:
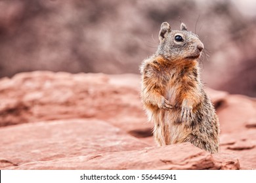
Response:
M221 160L223 156L218 156L217 162L208 152L184 143L129 152L37 161L8 169L239 169L236 159L228 157L228 161L235 163L223 164L219 163Z

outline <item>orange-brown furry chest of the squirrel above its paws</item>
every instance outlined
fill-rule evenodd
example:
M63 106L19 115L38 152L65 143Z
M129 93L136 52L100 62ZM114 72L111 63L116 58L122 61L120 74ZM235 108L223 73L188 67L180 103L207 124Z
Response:
M158 56L146 65L144 79L155 83L154 90L170 101L173 110L181 109L184 93L199 90L200 86L198 63L195 60L172 62Z

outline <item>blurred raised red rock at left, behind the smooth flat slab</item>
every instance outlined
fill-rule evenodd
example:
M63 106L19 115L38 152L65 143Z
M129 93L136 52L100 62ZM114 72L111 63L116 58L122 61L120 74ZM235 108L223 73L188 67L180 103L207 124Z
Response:
M137 80L136 75L128 76ZM68 118L98 118L125 131L152 127L142 110L139 86L133 83L121 84L102 74L46 71L4 78L0 80L0 127Z

